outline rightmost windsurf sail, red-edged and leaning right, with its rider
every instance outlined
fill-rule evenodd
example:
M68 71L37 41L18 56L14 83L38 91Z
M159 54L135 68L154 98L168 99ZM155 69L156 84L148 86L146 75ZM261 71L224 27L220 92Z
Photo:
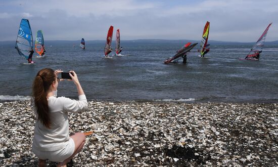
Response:
M270 23L267 28L263 31L262 35L257 40L256 44L252 47L249 54L245 57L245 59L259 59L259 55L262 52L264 41L266 38L267 31L272 23Z

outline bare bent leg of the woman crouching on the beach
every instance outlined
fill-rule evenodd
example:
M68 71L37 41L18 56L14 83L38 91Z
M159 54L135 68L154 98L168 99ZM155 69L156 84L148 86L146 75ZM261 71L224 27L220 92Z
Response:
M81 132L77 132L74 135L70 136L73 141L74 141L74 152L73 154L67 158L66 160L64 160L63 162L58 163L57 166L64 166L67 165L67 163L83 148L85 141L86 141L86 137L83 133Z

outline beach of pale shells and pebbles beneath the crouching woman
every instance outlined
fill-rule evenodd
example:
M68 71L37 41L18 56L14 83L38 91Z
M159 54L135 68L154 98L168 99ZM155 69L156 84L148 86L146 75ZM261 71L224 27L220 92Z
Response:
M69 113L94 133L68 166L278 166L278 104L99 102ZM0 103L0 166L37 166L30 101ZM55 166L56 162L47 162Z

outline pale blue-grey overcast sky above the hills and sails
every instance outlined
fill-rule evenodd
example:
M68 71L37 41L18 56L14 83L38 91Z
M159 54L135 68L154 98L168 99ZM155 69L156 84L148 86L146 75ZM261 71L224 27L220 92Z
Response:
M121 39L278 40L277 0L10 0L0 1L0 40L16 40L22 18L45 40L105 40L110 25Z

